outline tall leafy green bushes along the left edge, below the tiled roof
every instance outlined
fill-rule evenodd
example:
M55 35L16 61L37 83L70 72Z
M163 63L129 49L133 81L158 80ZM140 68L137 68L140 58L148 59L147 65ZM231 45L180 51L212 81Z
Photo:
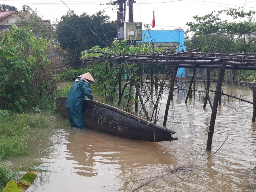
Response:
M0 33L3 49L14 58L0 57L0 109L21 110L23 106L40 105L42 98L52 101L58 78L48 56L53 45L42 36L36 36L30 28L13 26ZM56 53L56 52L55 52Z

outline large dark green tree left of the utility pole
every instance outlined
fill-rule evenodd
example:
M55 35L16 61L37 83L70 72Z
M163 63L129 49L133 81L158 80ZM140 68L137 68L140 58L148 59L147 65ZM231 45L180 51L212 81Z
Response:
M80 52L94 46L100 48L111 45L117 37L115 22L109 22L110 16L105 11L98 11L93 15L82 13L79 18L93 32L90 31L73 13L67 12L56 25L57 40L63 49L69 49L71 55L81 56Z

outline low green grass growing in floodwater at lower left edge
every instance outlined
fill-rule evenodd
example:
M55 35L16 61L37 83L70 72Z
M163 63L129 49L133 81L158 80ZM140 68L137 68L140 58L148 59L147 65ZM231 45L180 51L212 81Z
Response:
M42 115L28 114L0 115L0 160L26 154L26 139L31 133L30 127L48 127L49 121ZM11 170L0 161L0 191L11 179L17 181L23 172L34 170L34 164L21 164L19 170Z

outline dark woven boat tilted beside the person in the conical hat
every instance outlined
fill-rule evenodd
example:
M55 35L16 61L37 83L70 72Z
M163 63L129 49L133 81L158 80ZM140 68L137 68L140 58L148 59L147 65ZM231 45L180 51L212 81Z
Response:
M56 98L59 112L68 118L65 107L67 97ZM92 100L84 100L84 123L88 129L130 139L160 142L177 140L175 131L161 127L131 113Z

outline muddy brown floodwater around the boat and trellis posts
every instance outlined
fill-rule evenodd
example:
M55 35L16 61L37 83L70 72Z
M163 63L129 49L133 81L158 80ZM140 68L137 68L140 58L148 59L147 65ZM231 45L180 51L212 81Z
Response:
M211 89L215 89L214 84ZM223 85L224 93L234 95L234 91L234 86ZM249 88L236 86L236 96L240 95L252 101ZM164 115L167 97L168 92L159 117ZM222 148L207 159L211 155L206 152L210 106L207 104L203 109L203 101L198 96L189 99L187 104L184 101L185 96L176 93L170 105L166 126L177 131L175 137L179 140L156 143L161 159L154 143L93 130L55 129L67 119L61 115L48 115L51 127L36 131L29 154L10 159L10 162L14 167L21 159L42 162L41 166L48 169L28 191L129 192L155 176L163 177L138 191L256 191L252 172L256 166L256 123L251 122L253 105L222 97L212 153L229 137ZM150 113L150 106L147 109ZM157 123L162 125L163 118ZM179 166L183 167L177 172L167 171Z

